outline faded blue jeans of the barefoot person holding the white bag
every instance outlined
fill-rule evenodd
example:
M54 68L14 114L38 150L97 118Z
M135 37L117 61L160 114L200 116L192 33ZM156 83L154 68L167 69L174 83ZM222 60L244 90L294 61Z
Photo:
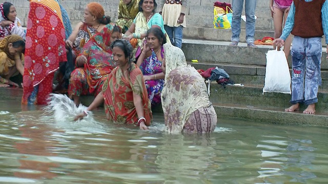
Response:
M321 37L295 36L291 54L293 57L291 103L305 105L317 103L318 88L321 85Z

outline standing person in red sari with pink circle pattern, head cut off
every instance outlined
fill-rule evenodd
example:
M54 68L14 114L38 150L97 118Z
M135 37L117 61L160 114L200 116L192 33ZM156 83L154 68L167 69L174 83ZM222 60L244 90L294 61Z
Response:
M27 19L23 104L47 104L59 61L67 61L65 28L56 0L30 0Z

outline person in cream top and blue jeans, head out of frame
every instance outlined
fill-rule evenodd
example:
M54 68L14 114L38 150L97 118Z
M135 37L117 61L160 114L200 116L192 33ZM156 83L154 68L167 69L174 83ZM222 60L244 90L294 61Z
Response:
M160 12L164 20L164 29L171 43L178 48L182 46L182 30L186 27L187 0L165 0Z

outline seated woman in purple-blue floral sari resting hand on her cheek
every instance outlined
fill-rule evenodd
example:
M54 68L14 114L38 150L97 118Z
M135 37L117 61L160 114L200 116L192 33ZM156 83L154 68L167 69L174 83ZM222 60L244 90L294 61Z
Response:
M160 66L164 58L163 44L165 43L166 37L163 32L158 28L151 28L147 31L146 41L144 41L137 61L137 66L144 75L148 97L152 105L160 103L160 93L164 86L165 74L161 71Z

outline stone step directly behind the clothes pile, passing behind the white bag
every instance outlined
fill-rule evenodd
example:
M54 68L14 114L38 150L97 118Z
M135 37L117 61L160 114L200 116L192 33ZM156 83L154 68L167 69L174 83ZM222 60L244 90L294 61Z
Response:
M224 62L191 62L187 61L197 70L206 71L208 68L218 66L229 74L230 79L235 83L260 85L263 87L265 79L265 65L252 64L231 64ZM292 74L292 70L290 70ZM321 70L322 85L320 89L328 89L328 70Z

